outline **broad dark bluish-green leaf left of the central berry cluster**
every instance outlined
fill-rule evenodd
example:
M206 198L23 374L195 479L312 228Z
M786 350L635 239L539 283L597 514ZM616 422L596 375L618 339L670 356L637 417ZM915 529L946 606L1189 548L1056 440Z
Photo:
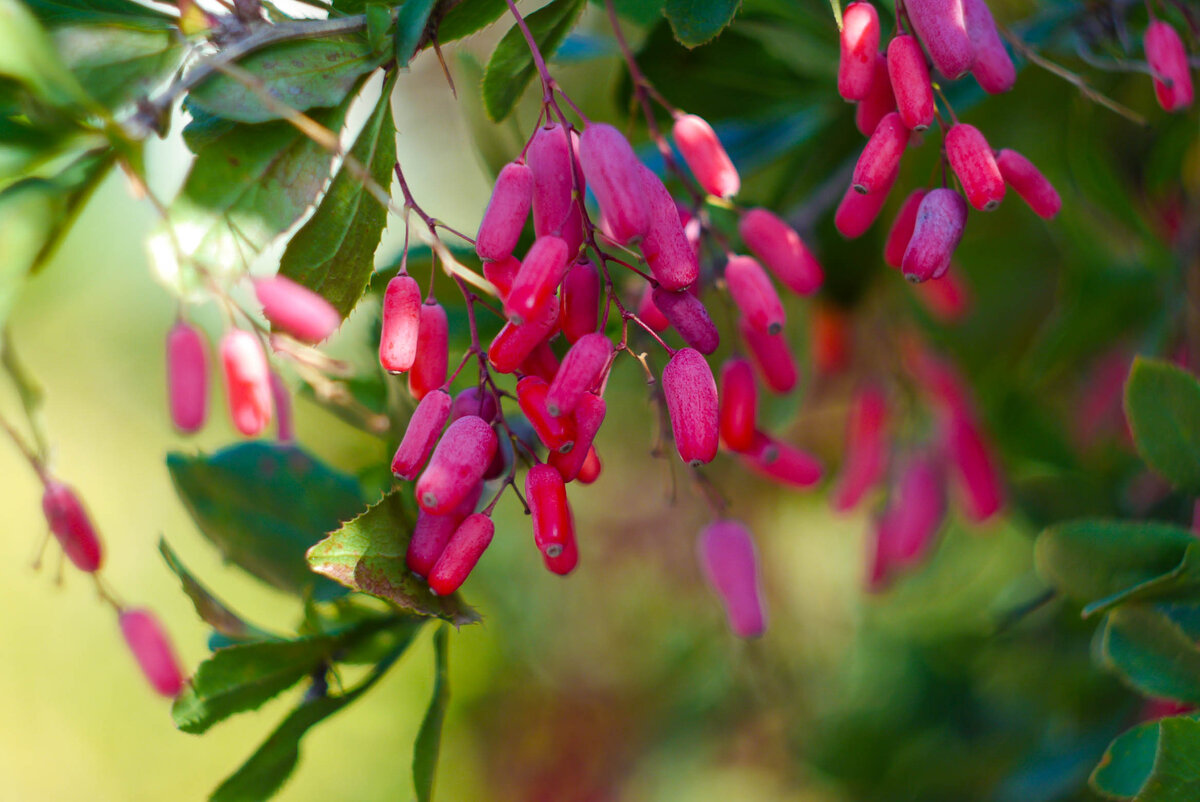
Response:
M329 599L341 588L308 570L305 551L362 509L358 483L294 445L240 443L210 456L168 454L175 490L200 532L244 570L280 589Z

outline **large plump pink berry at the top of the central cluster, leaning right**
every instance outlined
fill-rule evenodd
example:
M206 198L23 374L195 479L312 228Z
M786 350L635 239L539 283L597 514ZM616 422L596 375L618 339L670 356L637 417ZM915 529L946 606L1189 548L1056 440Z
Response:
M606 122L593 122L580 137L580 163L612 237L620 244L641 238L650 209L641 190L642 163L624 134Z

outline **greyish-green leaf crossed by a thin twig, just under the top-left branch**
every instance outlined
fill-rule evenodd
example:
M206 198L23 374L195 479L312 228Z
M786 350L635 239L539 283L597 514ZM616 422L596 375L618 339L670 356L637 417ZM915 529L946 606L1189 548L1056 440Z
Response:
M239 65L263 82L272 97L306 112L346 102L364 74L388 58L372 52L358 35L280 42L246 56ZM239 122L278 119L253 90L239 80L216 73L190 94L206 112Z

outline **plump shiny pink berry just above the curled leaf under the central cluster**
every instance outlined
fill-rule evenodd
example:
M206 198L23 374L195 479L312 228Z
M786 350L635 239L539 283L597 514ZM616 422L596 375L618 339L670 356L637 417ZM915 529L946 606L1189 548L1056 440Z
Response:
M482 418L454 421L416 480L416 503L426 513L445 515L484 478L494 453L496 432Z

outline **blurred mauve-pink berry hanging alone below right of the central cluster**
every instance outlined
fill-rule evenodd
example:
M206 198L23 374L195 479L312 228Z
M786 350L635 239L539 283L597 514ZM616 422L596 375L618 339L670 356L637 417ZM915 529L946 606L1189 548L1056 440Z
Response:
M767 617L758 587L758 555L750 532L739 521L713 521L700 533L696 551L704 579L720 597L733 634L762 635Z

